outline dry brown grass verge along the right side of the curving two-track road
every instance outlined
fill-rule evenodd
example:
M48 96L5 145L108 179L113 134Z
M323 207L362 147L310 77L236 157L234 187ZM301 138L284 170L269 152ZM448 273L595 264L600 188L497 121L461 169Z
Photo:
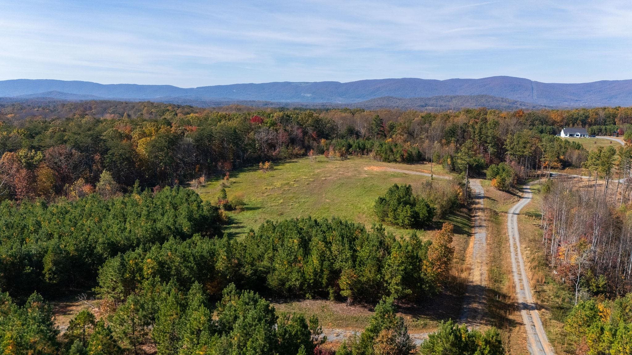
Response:
M564 327L564 318L573 306L573 295L552 277L542 247L539 188L534 185L532 190L532 202L528 203L518 216L523 257L530 277L533 298L542 307L540 317L551 345L557 354L570 354L573 353L573 350L566 348L562 328Z

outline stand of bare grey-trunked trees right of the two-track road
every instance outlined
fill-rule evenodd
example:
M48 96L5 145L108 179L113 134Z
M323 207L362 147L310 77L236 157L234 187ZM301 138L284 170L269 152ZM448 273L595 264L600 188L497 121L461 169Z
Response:
M614 158L609 156L611 164ZM597 171L599 178L602 172ZM612 170L605 172L614 174ZM605 178L611 179L612 175ZM599 191L594 183L586 189L578 189L577 184L573 179L558 178L543 186L542 248L549 265L556 270L557 279L573 290L575 301L631 292L629 186L626 184L623 194L617 196L616 190L623 186L619 182L615 186L604 184Z

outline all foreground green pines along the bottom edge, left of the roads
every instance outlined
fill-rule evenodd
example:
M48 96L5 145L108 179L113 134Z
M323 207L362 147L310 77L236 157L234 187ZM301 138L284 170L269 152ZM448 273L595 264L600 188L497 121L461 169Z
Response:
M51 307L33 294L24 306L0 294L0 351L3 354L123 355L310 355L334 352L321 347L326 340L318 318L277 313L252 291L229 285L212 306L200 284L187 291L171 285L144 303L128 301L103 318L90 311L78 313L66 332L52 322ZM392 298L375 306L368 327L343 341L336 355L504 354L499 332L484 334L453 322L441 323L420 348L396 314Z

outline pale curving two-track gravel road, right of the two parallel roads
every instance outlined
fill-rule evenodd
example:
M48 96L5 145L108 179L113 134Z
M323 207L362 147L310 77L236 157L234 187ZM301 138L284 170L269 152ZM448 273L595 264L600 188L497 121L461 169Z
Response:
M533 296L529 280L526 276L525 262L520 249L520 234L518 234L518 214L531 201L533 194L531 186L524 187L523 197L507 212L507 233L509 234L509 250L511 251L511 268L516 289L516 298L526 327L527 347L532 355L553 355L549 339L542 327L540 313L533 303Z

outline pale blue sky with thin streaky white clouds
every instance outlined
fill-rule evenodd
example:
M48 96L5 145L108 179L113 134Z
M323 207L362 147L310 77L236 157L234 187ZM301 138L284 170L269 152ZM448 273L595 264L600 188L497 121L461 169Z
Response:
M632 79L630 1L0 0L0 80Z

